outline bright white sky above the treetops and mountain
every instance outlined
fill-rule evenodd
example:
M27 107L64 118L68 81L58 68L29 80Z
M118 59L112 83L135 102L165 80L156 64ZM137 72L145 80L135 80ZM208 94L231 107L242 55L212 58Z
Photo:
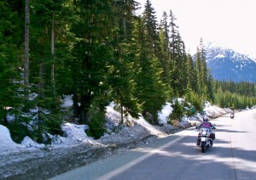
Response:
M176 17L187 53L216 42L256 58L256 0L149 0L158 20L164 11ZM144 7L146 0L137 0Z

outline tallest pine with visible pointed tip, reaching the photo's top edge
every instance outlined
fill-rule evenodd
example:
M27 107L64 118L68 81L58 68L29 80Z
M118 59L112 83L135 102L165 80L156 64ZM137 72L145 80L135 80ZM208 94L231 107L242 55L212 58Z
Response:
M157 59L159 35L154 8L147 1L142 20L137 21L137 43L139 44L139 65L137 74L137 98L143 104L143 115L153 115L152 123L157 123L157 112L166 103L166 84L162 81L163 70Z

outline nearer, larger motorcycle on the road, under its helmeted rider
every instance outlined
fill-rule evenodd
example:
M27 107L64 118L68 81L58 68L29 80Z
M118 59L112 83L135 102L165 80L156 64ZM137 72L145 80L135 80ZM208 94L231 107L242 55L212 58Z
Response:
M200 132L198 133L196 145L201 148L202 153L206 152L206 149L211 148L213 145L215 133L211 132L211 129L216 129L216 127L201 127Z

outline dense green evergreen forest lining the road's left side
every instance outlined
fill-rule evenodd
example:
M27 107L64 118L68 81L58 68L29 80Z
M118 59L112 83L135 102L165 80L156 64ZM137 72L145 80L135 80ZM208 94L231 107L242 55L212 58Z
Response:
M17 143L49 143L48 133L61 135L63 121L75 120L100 138L110 102L122 120L150 115L152 124L176 98L185 102L174 101L172 118L201 112L206 101L256 104L255 83L213 80L203 40L187 53L172 10L158 22L149 0L3 0L0 17L0 123ZM65 110L70 94L73 109Z

